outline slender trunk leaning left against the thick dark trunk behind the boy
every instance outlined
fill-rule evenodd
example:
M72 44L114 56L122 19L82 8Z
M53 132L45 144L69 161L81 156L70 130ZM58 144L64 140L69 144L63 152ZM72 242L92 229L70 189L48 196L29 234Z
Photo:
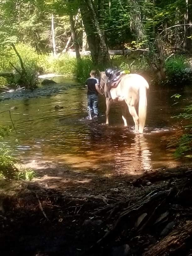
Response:
M100 56L99 56L99 63L100 64L103 64L103 63L109 64L110 63L110 57L109 57L108 48L107 48L107 45L106 45L106 42L105 42L104 32L100 28L99 19L98 19L97 14L94 10L93 3L92 3L91 0L88 0L88 5L89 5L89 8L90 8L91 12L93 13L93 19L94 19L95 27L96 27L96 30L97 30L97 33L98 33L99 39L100 39L100 50L101 50L101 52L100 52Z

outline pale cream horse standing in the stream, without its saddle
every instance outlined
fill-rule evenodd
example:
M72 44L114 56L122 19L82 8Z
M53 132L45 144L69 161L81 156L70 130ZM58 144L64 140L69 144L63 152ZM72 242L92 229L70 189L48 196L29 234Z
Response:
M108 77L105 72L100 72L100 88L102 92L106 92L106 82ZM110 93L112 100L106 98L106 124L109 124L109 109L114 102L125 101L129 112L133 117L135 123L135 131L143 133L147 115L147 89L149 84L138 74L127 74L121 78L120 83L116 88L111 88ZM136 109L138 108L138 114ZM122 119L124 125L127 126L125 119L125 108L123 108Z

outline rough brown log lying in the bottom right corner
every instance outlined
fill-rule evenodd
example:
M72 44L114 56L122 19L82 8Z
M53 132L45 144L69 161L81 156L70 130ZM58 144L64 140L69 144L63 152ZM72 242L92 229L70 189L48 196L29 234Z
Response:
M184 255L191 246L192 221L172 231L142 256Z

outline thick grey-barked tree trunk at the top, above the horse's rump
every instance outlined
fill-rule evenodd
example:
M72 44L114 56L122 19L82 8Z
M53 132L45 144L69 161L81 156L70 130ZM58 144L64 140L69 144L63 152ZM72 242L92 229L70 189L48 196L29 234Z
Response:
M145 31L141 19L141 9L137 0L131 0L130 26L135 33L136 40L143 41L145 39Z

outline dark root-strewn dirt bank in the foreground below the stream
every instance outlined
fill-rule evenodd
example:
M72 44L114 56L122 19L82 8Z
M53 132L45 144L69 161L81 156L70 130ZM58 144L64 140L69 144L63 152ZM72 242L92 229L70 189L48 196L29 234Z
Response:
M100 178L46 171L0 181L2 256L192 255L192 166Z

